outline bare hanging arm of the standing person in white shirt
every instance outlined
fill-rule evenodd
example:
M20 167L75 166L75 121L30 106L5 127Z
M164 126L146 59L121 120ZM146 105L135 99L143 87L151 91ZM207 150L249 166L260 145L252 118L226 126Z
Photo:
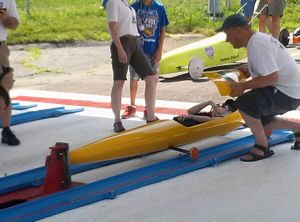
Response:
M120 37L118 34L118 23L117 22L109 22L108 23L112 40L117 48L118 56L119 56L119 62L123 64L128 64L127 54L121 44Z

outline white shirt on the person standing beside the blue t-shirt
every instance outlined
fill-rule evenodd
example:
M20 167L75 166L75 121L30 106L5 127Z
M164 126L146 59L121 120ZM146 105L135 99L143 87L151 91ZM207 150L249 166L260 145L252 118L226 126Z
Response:
M139 36L135 10L127 0L109 0L106 4L106 14L108 22L118 23L119 37L124 35Z

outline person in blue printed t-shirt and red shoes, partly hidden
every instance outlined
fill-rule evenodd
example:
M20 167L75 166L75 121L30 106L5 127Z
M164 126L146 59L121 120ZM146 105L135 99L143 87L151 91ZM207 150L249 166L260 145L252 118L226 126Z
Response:
M165 40L166 26L169 24L165 7L155 0L139 0L132 4L137 13L137 27L141 43L148 61L153 69L158 70ZM138 89L139 76L130 66L130 102L122 115L123 119L134 116L136 113L135 99ZM144 117L147 112L144 111Z

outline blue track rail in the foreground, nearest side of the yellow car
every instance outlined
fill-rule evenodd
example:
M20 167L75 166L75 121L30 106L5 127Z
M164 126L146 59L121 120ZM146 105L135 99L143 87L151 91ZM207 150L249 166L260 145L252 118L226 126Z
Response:
M293 133L290 131L275 131L269 138L269 142L271 145L275 145L292 139ZM249 152L253 144L253 137L247 136L201 150L198 160L191 160L188 155L182 155L97 182L77 186L67 191L3 209L0 211L0 221L35 221L96 201L114 199L125 192L241 156Z

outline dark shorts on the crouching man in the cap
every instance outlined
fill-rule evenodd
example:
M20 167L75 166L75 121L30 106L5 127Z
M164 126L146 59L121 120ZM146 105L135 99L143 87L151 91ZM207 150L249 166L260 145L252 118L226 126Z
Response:
M237 108L247 115L261 119L265 125L276 115L296 110L300 99L294 99L280 92L273 86L250 90L235 100Z

